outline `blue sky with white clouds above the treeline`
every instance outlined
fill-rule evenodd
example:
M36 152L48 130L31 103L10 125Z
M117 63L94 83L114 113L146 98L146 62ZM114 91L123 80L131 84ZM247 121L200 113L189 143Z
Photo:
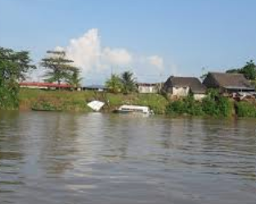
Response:
M200 77L256 58L254 0L0 0L0 47L35 64L64 50L83 84L132 71L138 82ZM43 68L30 80L40 81Z

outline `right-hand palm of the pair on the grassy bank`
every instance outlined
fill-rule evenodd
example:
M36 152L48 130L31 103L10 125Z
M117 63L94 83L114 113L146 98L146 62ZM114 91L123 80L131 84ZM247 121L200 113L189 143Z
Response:
M133 77L133 73L131 73L129 71L122 73L121 82L123 84L124 94L128 94L132 91L137 90L137 86L136 86L137 82L136 82L135 78Z

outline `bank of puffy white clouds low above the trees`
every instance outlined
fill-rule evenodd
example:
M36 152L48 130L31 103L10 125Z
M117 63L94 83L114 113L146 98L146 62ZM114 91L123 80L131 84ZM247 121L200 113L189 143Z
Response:
M74 64L82 71L82 77L92 74L91 82L93 78L101 77L104 80L103 74L109 74L110 69L121 72L132 68L130 71L137 73L138 80L140 73L145 78L146 73L156 74L164 70L164 60L159 55L138 56L122 47L102 47L98 29L90 29L83 36L71 39L67 47L56 47L56 50L64 50L67 57L74 60Z

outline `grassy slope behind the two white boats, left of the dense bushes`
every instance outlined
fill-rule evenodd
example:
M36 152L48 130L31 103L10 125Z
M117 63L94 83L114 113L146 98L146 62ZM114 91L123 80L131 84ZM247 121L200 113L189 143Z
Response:
M87 102L90 100L109 101L103 109L110 112L122 104L146 105L155 113L165 113L168 101L162 95L155 94L111 94L94 91L43 91L21 89L20 109L44 109L56 111L91 112Z

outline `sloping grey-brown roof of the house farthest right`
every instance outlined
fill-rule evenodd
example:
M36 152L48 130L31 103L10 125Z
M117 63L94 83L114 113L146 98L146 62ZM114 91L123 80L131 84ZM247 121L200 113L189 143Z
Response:
M254 89L242 73L209 73L218 86L227 89Z

